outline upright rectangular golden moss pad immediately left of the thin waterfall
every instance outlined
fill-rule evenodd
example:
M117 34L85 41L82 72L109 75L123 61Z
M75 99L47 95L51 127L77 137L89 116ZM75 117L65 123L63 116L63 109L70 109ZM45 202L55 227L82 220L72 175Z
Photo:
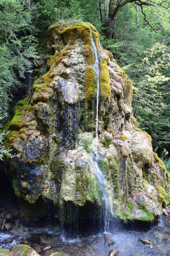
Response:
M92 100L97 95L97 76L95 69L91 66L86 67L86 100Z

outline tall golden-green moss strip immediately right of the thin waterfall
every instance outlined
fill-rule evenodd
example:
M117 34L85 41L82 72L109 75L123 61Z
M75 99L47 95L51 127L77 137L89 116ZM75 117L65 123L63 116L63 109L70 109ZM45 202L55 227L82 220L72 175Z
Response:
M110 100L111 86L110 86L109 70L107 67L108 59L109 57L100 60L99 82L100 82L101 96L104 97L105 99L108 98Z

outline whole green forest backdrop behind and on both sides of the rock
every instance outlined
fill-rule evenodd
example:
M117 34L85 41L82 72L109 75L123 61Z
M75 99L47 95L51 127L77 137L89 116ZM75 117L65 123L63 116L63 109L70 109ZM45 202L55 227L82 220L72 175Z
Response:
M0 0L0 120L40 61L41 33L90 22L133 86L133 113L170 171L170 0ZM0 159L9 131L1 125ZM170 187L170 184L169 184Z

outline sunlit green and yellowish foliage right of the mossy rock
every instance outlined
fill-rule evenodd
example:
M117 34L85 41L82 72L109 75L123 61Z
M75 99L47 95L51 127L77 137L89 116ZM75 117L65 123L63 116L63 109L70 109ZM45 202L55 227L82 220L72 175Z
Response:
M166 30L169 21L157 12L159 15L164 25L155 33L141 14L139 25L136 23L135 6L124 6L117 15L115 38L102 36L102 44L132 80L135 117L139 127L151 135L154 150L161 154L164 148L170 152L170 33Z

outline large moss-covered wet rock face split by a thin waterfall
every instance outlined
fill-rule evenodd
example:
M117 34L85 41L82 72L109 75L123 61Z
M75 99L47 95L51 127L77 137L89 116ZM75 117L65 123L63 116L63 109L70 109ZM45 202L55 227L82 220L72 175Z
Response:
M100 56L98 143L90 28ZM6 172L22 207L24 202L27 207L36 205L37 200L51 200L60 207L65 202L101 205L94 162L98 145L112 215L152 220L169 202L167 172L153 155L150 136L133 118L130 79L102 49L89 23L54 24L44 41L41 57L48 71L42 75L43 65L37 69L32 97L17 103L6 124L6 147L20 153L5 159Z

